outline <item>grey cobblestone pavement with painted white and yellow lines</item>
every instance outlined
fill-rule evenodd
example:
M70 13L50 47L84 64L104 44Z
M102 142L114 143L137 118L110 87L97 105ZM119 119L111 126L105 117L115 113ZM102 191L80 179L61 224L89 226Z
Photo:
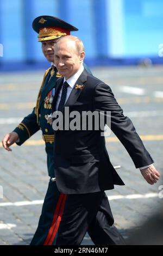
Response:
M93 74L108 83L124 114L133 120L139 135L162 173L163 67L94 68ZM0 138L12 131L19 119L32 111L43 71L5 73L0 76ZM28 245L36 230L45 196L48 175L41 133L29 143L12 147L9 153L0 145L0 245ZM34 145L33 145L34 142ZM160 181L148 185L135 169L127 151L111 133L107 138L111 162L121 165L117 172L126 186L106 191L115 225L128 237L162 204ZM0 194L0 197L2 195ZM121 197L122 196L122 197ZM22 203L20 203L22 202ZM4 204L10 203L10 204ZM14 204L16 203L16 204ZM83 245L91 245L88 235Z

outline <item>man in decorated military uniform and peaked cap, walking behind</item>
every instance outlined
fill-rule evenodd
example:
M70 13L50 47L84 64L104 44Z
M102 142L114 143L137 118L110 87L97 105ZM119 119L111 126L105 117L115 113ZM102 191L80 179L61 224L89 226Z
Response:
M52 16L37 17L33 21L33 29L39 33L38 38L39 41L42 42L42 52L44 56L53 65L45 72L33 112L25 117L13 132L5 135L2 143L6 150L11 151L10 146L12 144L16 142L17 145L22 145L35 132L40 129L42 130L42 137L46 145L45 149L47 153L47 167L50 181L42 206L39 224L30 244L55 245L57 231L64 211L66 195L58 191L54 173L54 131L51 125L51 108L55 93L55 84L58 77L61 77L54 65L54 44L61 36L70 35L71 31L78 31L78 29L65 21ZM85 68L89 71L86 65ZM99 209L98 214L95 220L91 223L89 229L89 235L95 245L124 244L123 237L118 233L113 224L114 218L112 217L107 197L104 194L101 209Z

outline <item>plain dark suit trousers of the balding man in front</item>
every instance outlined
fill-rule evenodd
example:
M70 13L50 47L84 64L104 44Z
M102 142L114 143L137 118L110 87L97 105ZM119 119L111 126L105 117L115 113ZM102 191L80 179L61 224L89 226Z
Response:
M65 202L64 214L62 215L58 230L56 245L80 245L87 231L89 233L89 230L91 230L90 234L93 234L92 228L96 221L98 222L97 230L95 225L95 234L92 239L96 241L95 245L115 244L115 241L113 240L117 239L117 235L118 243L116 244L124 245L125 242L123 237L117 233L115 227L112 232L106 219L106 215L99 214L104 198L104 192L68 194ZM106 202L107 201L105 200L105 205Z

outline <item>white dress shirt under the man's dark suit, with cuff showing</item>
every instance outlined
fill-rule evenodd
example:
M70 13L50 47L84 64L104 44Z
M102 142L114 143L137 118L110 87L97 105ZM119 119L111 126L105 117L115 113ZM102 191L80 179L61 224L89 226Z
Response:
M66 95L65 103L66 103L66 101L68 100L68 97L70 96L71 91L72 91L74 85L76 84L76 82L77 82L79 76L82 74L83 70L84 70L84 66L82 65L82 66L80 67L80 69L76 72L76 74L74 74L73 76L71 76L71 77L68 78L67 80L66 80L66 78L64 77L64 82L66 81L66 82L69 84L69 86L68 86L68 88L67 88L67 95ZM57 99L57 103L56 103L56 109L58 109L59 102L60 102L60 99L61 99L61 94L62 94L62 87L61 87L60 92L59 92L59 95L58 95L58 99ZM147 168L147 167L149 167L149 166L152 166L152 164L149 164L148 166L140 167L139 169L142 170L142 169L145 169L145 168Z

